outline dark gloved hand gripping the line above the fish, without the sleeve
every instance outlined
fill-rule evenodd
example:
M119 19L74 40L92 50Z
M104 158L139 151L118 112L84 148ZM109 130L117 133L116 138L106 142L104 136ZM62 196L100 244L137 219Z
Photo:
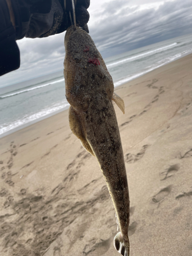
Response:
M76 23L84 27L89 21L87 8L90 0L74 2ZM11 4L15 17L16 39L24 36L47 37L61 33L71 26L71 0L11 0Z

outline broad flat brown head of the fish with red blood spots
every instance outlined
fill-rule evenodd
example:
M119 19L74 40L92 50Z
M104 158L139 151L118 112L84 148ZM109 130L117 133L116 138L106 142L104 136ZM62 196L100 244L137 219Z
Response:
M99 104L99 97L112 100L113 80L91 36L71 26L66 32L65 49L66 98L72 107L86 112L91 101Z

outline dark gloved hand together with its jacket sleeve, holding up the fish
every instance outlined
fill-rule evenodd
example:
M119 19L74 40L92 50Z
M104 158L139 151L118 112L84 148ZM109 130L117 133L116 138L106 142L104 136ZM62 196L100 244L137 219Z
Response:
M69 10L72 10L71 0L10 1L7 0L12 6L11 11L6 0L0 0L0 76L20 66L19 49L15 40L24 36L46 37L61 33L71 26L69 16ZM76 23L85 28L89 21L87 8L90 0L74 2ZM88 27L87 32L89 32Z

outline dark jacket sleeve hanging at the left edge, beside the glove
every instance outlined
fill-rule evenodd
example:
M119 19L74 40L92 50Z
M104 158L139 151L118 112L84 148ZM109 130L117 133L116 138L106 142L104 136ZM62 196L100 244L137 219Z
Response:
M6 0L0 0L0 75L18 69L20 53Z

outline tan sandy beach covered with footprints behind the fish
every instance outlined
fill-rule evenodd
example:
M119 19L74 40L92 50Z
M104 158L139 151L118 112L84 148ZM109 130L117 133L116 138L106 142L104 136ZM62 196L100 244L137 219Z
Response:
M116 88L131 256L192 255L192 55ZM115 210L68 110L0 139L4 256L115 256Z

